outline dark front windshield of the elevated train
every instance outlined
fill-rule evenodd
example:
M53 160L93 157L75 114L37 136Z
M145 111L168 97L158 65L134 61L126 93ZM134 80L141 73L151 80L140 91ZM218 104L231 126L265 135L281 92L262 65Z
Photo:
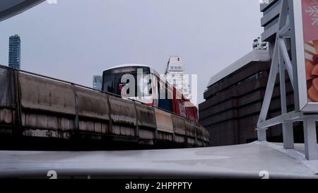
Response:
M102 90L129 97L151 96L150 73L150 68L140 66L104 71L102 75Z

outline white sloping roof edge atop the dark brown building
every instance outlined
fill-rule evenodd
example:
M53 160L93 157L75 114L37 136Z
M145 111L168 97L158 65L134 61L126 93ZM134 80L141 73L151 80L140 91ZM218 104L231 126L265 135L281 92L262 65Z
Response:
M269 55L269 50L254 49L252 52L249 52L244 57L238 59L236 62L230 64L230 66L218 72L218 74L212 76L207 87L213 85L214 83L217 83L221 79L232 74L233 72L249 64L250 62L266 62L270 59L271 58Z

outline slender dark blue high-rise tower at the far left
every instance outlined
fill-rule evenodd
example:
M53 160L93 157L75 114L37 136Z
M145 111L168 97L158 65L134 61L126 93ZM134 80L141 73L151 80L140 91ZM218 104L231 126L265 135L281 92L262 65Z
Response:
M20 69L21 40L18 35L12 35L9 38L8 66L14 69Z

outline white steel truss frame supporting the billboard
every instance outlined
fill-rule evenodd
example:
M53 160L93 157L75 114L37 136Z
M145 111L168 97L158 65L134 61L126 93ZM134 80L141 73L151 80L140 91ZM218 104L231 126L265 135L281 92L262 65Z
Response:
M269 81L266 87L263 105L257 123L257 134L259 141L266 141L266 129L278 124L283 127L284 148L294 148L293 122L304 123L305 136L305 157L307 160L318 160L316 121L318 121L318 110L316 113L305 114L300 112L298 106L298 74L295 47L295 31L293 2L294 0L281 0L281 14L278 21L278 31L276 33L276 43L273 48L273 58ZM289 8L288 8L289 7ZM292 49L292 61L288 54L287 41L290 41ZM305 60L305 59L304 59ZM305 68L305 66L304 66ZM295 111L287 112L286 90L285 90L285 69L288 71L290 82L292 83L295 95ZM266 120L271 104L273 89L275 87L276 76L279 74L281 86L281 112L282 115Z

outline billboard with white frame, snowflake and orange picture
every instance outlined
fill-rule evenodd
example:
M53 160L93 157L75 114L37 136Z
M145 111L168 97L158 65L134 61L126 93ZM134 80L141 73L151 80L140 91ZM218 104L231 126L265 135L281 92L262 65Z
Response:
M318 0L293 1L300 111L318 112Z

